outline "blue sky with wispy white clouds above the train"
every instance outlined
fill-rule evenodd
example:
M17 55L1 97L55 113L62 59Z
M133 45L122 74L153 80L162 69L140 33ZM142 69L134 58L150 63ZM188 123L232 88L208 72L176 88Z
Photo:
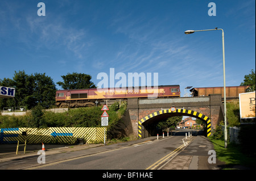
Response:
M38 16L39 2L46 16ZM216 16L209 16L209 2ZM238 86L255 69L255 0L0 1L0 78L14 71L46 73L158 73L159 85ZM59 86L57 86L60 89Z

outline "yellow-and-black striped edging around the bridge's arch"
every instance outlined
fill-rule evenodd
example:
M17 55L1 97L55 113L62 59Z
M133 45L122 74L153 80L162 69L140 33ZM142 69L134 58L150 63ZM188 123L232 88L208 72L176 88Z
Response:
M207 137L210 136L210 134L211 134L211 127L210 127L211 121L210 121L209 117L203 115L202 113L192 111L192 110L176 109L175 111L171 111L171 109L169 109L169 110L161 110L161 111L153 112L150 115L147 115L147 116L143 117L141 120L139 120L139 124L138 124L139 138L141 138L142 124L145 123L145 121L151 119L152 117L162 115L165 113L176 113L176 114L178 113L179 115L192 116L192 117L201 119L201 120L205 121L205 123L207 123Z

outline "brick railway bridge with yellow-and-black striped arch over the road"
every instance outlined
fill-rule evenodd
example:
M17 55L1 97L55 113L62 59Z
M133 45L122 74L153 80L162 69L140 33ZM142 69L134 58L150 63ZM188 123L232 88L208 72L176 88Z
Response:
M210 136L213 128L224 120L221 94L185 98L129 98L119 131L126 136L133 134L139 138L155 136L156 124L171 116L191 116L205 121L207 136Z

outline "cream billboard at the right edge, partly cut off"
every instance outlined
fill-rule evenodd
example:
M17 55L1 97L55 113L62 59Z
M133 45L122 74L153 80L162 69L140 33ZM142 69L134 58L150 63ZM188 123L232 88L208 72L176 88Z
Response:
M239 94L241 124L255 123L255 92Z

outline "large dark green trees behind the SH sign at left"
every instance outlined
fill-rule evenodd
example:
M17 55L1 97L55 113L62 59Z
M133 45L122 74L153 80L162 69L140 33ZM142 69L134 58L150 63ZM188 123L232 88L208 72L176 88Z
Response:
M13 79L4 78L1 86L14 87L15 98L0 99L0 108L25 106L31 109L40 104L49 108L55 103L56 87L51 77L45 73L28 75L23 71L15 71Z

